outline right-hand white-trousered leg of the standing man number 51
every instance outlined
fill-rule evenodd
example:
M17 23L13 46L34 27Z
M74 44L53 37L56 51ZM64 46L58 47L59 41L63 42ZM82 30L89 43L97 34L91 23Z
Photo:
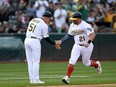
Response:
M40 58L41 58L41 44L38 39L34 39L32 44L32 56L33 56L33 75L34 83L44 83L40 81L39 70L40 70Z

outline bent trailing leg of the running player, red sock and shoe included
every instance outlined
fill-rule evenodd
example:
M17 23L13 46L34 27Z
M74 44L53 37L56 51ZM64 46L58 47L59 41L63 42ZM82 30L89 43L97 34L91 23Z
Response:
M92 43L89 45L88 48L83 48L83 50L82 50L83 64L85 66L95 67L97 69L98 73L101 73L102 71L98 69L99 67L101 69L100 62L99 61L95 62L94 60L90 60L92 51L93 51L93 44Z

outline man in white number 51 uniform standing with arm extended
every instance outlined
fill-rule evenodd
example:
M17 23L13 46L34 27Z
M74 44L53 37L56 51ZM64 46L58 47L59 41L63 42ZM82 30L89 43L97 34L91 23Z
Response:
M29 22L25 38L25 51L28 64L30 83L45 83L39 77L39 63L41 57L41 40L44 38L50 44L55 45L48 35L48 24L52 14L46 11L42 18L34 18ZM55 45L59 48L58 45Z

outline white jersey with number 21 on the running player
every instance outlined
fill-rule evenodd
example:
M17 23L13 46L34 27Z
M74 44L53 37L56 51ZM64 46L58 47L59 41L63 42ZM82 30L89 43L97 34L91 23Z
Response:
M79 25L75 25L72 23L70 25L68 34L74 35L75 43L77 44L84 44L88 41L88 36L94 32L93 28L86 23L85 21L82 21Z

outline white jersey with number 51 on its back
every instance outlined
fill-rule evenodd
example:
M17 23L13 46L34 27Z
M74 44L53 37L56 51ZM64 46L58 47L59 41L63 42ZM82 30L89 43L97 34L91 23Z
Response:
M27 28L26 37L36 37L40 40L49 37L48 25L41 18L34 18L30 21Z

